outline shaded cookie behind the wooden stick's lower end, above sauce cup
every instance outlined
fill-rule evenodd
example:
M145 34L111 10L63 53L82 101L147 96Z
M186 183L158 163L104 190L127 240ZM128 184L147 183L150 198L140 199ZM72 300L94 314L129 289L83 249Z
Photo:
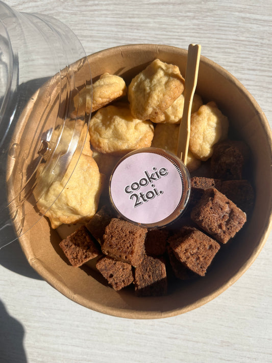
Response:
M152 147L164 149L177 155L178 137L180 125L176 124L158 124L155 127ZM188 151L186 166L189 172L193 172L201 165L201 160L196 159L190 151Z

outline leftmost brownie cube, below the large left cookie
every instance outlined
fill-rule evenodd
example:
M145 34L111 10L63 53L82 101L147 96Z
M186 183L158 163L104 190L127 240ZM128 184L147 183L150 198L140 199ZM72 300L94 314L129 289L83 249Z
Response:
M71 265L76 267L100 254L95 240L85 226L80 227L63 239L59 245Z

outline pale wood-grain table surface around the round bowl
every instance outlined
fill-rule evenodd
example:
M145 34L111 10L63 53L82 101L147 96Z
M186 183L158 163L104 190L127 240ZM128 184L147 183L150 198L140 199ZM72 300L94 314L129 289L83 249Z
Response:
M66 23L86 54L129 43L187 49L229 70L272 126L270 0L7 0ZM18 243L0 251L0 362L272 362L272 235L226 292L181 316L130 320L88 310L29 266Z

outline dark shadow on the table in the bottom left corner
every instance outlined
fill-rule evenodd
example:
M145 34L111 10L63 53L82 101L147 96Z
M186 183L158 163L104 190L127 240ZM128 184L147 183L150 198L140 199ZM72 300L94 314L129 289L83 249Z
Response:
M0 361L27 363L26 352L23 348L23 326L8 314L1 300L0 327Z

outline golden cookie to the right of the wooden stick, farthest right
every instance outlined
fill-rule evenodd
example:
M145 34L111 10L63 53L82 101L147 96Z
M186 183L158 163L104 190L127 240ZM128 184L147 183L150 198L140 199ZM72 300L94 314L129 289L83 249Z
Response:
M216 142L228 136L229 121L217 108L215 102L209 102L191 115L191 133L189 150L200 160L208 160Z

